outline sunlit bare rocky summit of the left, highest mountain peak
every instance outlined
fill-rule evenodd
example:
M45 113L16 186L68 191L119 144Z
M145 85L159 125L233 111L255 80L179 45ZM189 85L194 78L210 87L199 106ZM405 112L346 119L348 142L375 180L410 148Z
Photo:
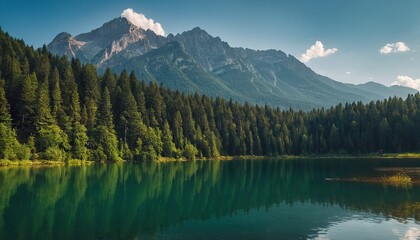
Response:
M125 59L142 55L159 47L164 37L145 31L126 18L115 18L102 27L75 37L60 33L48 44L53 54L79 58L84 63L93 63L98 67L122 53Z

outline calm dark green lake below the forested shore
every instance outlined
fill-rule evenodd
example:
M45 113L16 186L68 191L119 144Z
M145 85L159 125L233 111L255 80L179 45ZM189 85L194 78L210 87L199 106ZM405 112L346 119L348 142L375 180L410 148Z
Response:
M420 239L414 159L0 168L0 239Z

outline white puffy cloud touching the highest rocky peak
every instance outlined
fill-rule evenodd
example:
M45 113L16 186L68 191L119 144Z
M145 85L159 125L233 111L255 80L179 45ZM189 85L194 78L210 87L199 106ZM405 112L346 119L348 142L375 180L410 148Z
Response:
M127 8L121 13L121 17L126 18L132 24L144 30L150 29L157 35L165 36L165 31L160 23L153 19L146 18L142 13L136 13L132 8Z

